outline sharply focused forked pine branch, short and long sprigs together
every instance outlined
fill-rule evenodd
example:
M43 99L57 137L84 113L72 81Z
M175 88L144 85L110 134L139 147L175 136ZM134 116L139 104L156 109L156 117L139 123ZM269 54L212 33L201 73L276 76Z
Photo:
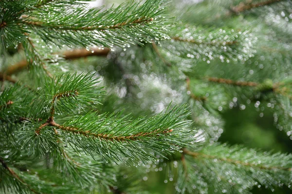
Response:
M44 91L40 91L40 97L44 101L35 100L35 106L30 105L30 109L23 107L27 112L23 115L18 112L15 115L16 121L21 120L24 124L23 130L18 132L19 142L23 145L31 145L33 142L34 146L29 146L29 154L42 156L59 149L58 138L61 138L77 152L83 150L92 157L99 154L115 162L130 164L156 160L149 150L164 155L194 143L192 134L195 132L185 129L189 124L189 121L184 120L188 115L185 105L168 112L164 110L148 119L140 117L131 120L128 116L120 118L121 113L114 116L89 112L78 117L73 116L62 124L55 121L56 113L76 114L92 106L92 103L99 103L98 95L102 91L95 86L98 81L92 76L74 74L46 82ZM14 94L10 90L7 92ZM2 100L5 106L7 102L9 106L14 105L9 102L15 99L10 99L11 95L0 96L5 97ZM38 115L41 117L36 117ZM52 130L54 128L62 131L57 133L58 137L55 130Z

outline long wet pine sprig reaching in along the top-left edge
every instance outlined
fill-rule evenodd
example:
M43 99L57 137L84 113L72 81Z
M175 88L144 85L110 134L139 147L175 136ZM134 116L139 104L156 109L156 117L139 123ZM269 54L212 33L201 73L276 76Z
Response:
M46 43L60 47L127 47L168 38L165 32L170 25L163 17L165 0L146 0L141 5L140 1L130 1L104 11L71 5L78 4L76 0L35 1L35 5L32 4L33 1L23 2L23 7L14 8L13 18L7 16L0 21L0 35L5 45L15 46L18 41L24 41L24 33L31 32ZM12 6L11 2L1 5L2 14ZM13 39L17 35L17 39Z

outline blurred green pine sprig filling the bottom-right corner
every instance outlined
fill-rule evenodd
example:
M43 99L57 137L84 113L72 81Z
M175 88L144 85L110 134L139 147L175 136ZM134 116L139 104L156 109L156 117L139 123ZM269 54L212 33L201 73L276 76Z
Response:
M183 149L183 155L179 193L215 190L249 194L254 186L265 186L272 191L278 186L291 187L291 154L215 144L200 151Z

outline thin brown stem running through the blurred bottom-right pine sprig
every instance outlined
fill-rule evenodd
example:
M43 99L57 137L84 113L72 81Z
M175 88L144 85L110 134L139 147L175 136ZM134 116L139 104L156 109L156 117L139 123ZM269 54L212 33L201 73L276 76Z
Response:
M279 166L263 166L263 165L256 165L253 163L249 163L249 162L242 162L242 161L237 161L237 160L233 160L233 159L229 159L229 158L222 158L222 157L218 157L218 156L212 156L212 155L207 155L207 154L203 154L201 152L192 152L187 150L186 148L183 149L183 153L189 156L192 156L193 158L205 158L205 159L217 159L217 161L220 162L228 162L231 164L235 164L235 165L242 165L242 166L247 166L247 167L252 167L252 168L260 168L263 170L285 170L285 171L291 171L291 168L283 168L283 167L279 167Z

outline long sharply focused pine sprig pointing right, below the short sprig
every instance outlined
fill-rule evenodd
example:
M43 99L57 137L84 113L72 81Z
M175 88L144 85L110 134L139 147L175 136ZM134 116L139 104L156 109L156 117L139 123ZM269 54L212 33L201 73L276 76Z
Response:
M185 129L189 124L184 121L188 115L185 108L177 107L133 121L128 116L88 113L62 125L55 122L50 125L63 131L68 144L82 148L92 157L100 154L106 159L131 164L155 160L151 150L164 156L195 143L192 136L195 133Z

